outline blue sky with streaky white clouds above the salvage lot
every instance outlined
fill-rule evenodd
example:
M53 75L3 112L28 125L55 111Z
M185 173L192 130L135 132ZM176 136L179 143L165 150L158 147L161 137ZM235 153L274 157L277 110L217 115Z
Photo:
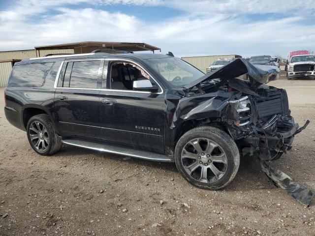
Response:
M176 57L315 51L314 0L0 0L0 51L144 42Z

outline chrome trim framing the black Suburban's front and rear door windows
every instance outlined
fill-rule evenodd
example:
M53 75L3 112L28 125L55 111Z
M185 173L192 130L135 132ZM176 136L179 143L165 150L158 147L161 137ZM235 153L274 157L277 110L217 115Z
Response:
M58 80L60 77L60 73L61 70L63 68L63 63L65 62L72 62L72 61L86 61L86 60L107 60L107 61L127 61L130 63L133 63L139 67L141 67L158 85L158 87L161 89L160 92L150 92L150 91L134 91L134 90L123 90L123 89L85 89L85 88L62 88L62 87L57 87L58 85ZM115 91L115 92L137 92L137 93L149 93L149 94L162 94L164 93L163 88L159 85L159 83L157 82L157 80L147 71L145 70L141 65L139 65L137 62L134 62L132 60L127 60L127 59L74 59L74 60L64 60L58 70L58 73L56 75L56 79L55 79L55 84L54 84L54 89L80 89L80 90L99 90L99 91Z

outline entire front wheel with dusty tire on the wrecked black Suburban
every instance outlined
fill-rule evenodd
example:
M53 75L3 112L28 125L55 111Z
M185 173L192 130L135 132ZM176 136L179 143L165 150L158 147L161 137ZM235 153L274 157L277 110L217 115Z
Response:
M178 141L174 155L176 167L194 186L216 190L235 177L240 154L234 140L211 126L193 128Z

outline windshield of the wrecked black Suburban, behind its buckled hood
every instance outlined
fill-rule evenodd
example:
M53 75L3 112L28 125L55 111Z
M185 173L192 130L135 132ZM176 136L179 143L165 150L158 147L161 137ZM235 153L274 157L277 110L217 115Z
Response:
M146 62L157 74L175 87L183 87L205 75L179 58L147 59Z

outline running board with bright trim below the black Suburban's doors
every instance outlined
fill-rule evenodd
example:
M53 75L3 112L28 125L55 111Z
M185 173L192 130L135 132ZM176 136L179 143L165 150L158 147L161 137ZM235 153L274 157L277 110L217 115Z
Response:
M139 159L150 160L150 161L161 161L161 162L173 162L168 156L163 154L152 153L148 151L133 150L129 148L121 148L108 144L98 144L88 141L76 140L76 139L65 139L63 140L64 144L88 148L96 151L115 153L119 155L131 156Z

